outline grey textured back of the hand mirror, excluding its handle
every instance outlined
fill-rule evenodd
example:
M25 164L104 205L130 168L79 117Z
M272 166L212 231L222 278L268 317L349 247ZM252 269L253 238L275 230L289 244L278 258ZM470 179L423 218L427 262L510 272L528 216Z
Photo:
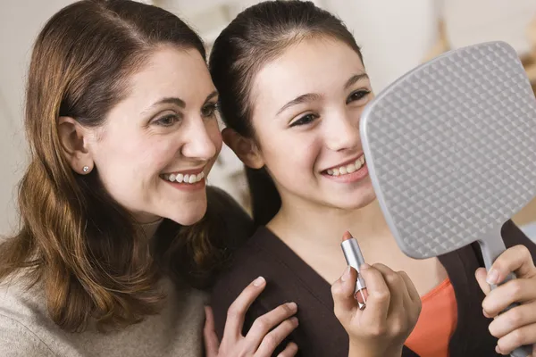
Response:
M364 154L404 253L448 253L536 195L536 99L514 49L493 42L427 62L364 110Z

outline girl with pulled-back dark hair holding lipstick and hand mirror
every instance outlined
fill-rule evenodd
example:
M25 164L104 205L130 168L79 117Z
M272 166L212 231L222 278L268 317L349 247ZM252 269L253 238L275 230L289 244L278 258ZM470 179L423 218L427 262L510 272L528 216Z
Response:
M300 325L290 340L300 355L346 356L349 345L385 356L393 334L389 324L377 324L401 306L401 273L393 270L403 270L423 306L409 338L391 338L398 355L405 340L404 357L491 356L536 342L536 249L514 223L502 230L511 248L487 277L475 245L422 261L398 249L375 200L359 137L359 118L373 89L354 37L331 13L299 1L256 4L216 39L209 67L228 127L223 138L247 165L257 226L214 287L217 330L239 286L263 275L270 288L252 305L247 325L292 299ZM382 290L385 300L390 296L388 308L369 298L354 320L329 295L328 282L336 281L336 290L348 280L338 279L346 265L340 251L346 230L367 262L392 268L373 265L389 287ZM373 269L363 271L371 295L366 274ZM510 271L518 279L490 292L486 278L497 284ZM489 294L485 299L482 290ZM522 304L498 316L515 301ZM369 309L381 319L360 324Z

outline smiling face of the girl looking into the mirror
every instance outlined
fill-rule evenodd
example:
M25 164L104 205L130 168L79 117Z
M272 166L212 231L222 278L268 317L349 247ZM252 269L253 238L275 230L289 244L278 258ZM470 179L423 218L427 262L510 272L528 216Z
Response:
M252 97L260 156L284 204L354 209L373 201L359 137L373 92L353 49L329 38L290 46L259 71Z

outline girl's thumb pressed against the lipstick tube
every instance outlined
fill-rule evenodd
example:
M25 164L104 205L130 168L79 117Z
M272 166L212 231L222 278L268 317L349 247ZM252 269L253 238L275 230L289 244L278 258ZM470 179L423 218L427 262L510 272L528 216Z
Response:
M340 323L345 325L359 309L354 296L356 289L357 271L348 266L342 276L331 286L333 311Z

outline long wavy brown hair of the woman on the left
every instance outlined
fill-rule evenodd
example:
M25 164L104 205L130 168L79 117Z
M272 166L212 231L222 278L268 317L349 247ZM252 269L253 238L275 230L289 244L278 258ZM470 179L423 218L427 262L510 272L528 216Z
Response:
M129 0L85 0L46 23L31 55L21 229L0 245L0 280L42 284L52 320L68 331L82 331L90 320L97 328L138 322L159 311L162 272L201 282L222 255L209 239L221 233L218 217L208 211L191 227L165 220L147 262L136 221L107 194L97 170L79 175L63 156L58 118L103 125L157 46L193 48L205 59L201 39L170 12Z

